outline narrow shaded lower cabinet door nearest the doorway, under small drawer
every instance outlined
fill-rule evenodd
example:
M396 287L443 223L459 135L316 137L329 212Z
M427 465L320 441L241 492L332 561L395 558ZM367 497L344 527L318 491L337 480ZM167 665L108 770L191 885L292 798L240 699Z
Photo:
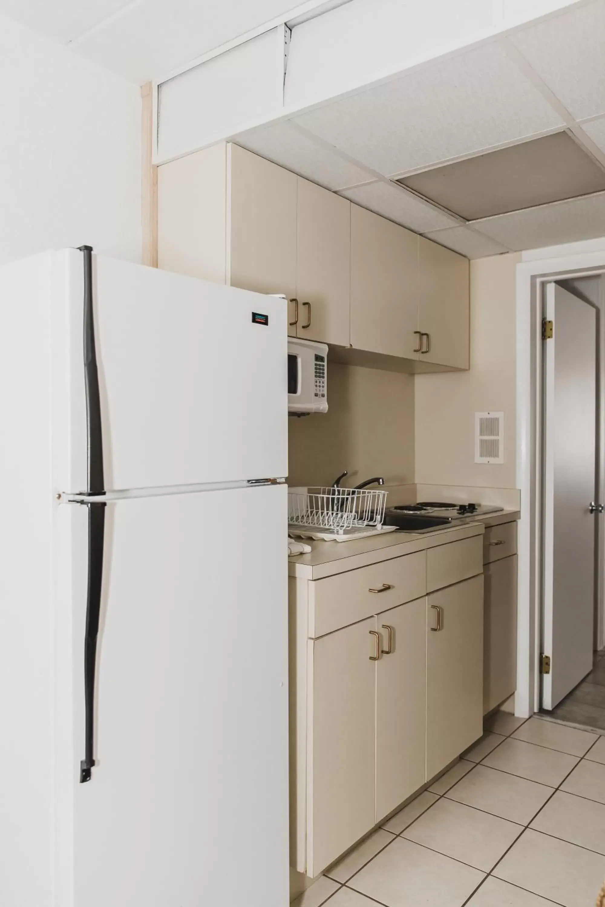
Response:
M517 555L485 564L483 713L517 688Z

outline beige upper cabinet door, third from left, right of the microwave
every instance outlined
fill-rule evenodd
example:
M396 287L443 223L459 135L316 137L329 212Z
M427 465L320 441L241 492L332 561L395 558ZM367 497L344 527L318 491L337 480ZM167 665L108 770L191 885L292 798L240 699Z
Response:
M351 346L415 359L418 329L418 237L351 205Z

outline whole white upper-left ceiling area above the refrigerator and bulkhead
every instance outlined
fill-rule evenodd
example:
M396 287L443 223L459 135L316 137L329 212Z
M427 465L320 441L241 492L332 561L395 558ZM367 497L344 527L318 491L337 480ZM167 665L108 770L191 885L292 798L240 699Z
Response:
M136 83L160 78L301 0L0 0L0 13Z

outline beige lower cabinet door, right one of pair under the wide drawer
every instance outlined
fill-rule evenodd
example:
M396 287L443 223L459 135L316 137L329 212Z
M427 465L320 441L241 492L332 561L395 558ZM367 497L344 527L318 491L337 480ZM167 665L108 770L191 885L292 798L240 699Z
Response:
M376 822L425 781L426 598L376 618Z

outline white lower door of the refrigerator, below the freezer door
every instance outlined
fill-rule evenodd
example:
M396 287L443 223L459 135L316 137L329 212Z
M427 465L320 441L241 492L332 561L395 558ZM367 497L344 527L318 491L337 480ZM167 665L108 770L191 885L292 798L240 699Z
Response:
M71 650L73 671L57 702L73 690L73 726L57 763L63 907L288 904L286 496L269 486L107 504L88 784L87 514L65 505L72 609L57 609L56 661ZM252 532L237 535L247 513Z

